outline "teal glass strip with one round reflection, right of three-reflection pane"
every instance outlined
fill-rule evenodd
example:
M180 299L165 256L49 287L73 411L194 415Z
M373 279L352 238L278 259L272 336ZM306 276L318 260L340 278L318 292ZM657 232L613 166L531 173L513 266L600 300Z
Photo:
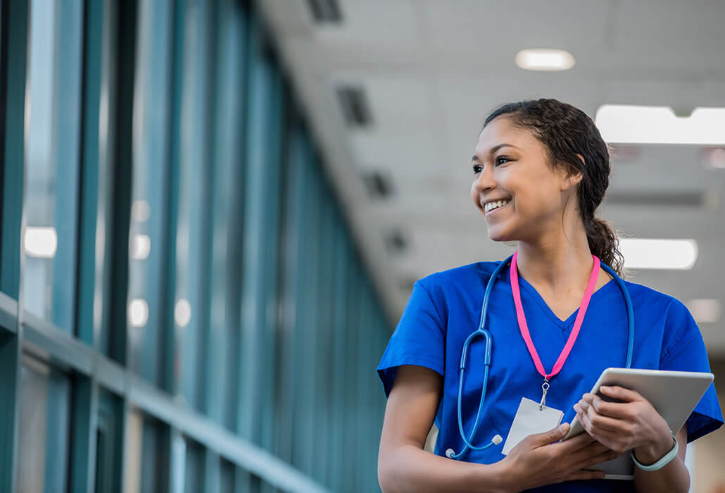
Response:
M208 128L208 7L194 0L184 14L181 87L181 149L176 231L175 334L178 339L175 388L187 404L203 407L203 355L207 327L210 244Z

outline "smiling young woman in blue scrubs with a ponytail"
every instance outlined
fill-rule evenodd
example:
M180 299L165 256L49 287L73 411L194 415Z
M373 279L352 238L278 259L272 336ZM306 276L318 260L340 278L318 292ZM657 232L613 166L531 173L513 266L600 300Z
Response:
M625 365L629 334L623 292L600 267L623 273L614 231L595 218L610 163L594 122L554 99L506 104L486 118L472 165L471 199L489 237L517 241L517 252L505 266L476 262L415 283L378 366L388 396L381 488L687 492L687 442L723 423L714 386L673 431L637 392L602 388L616 402L587 393L602 370ZM479 448L495 435L505 440L519 405L542 404L545 387L545 406L563 411L565 423L529 435L508 455L502 443L468 448L457 415L460 355L479 327L484 290L497 267L485 320L492 336L486 399L477 420L486 371L486 344L478 339L468 349L461 392L463 433L471 436L476 427L470 442ZM636 283L626 288L636 326L631 368L709 372L700 330L682 302ZM560 442L575 415L587 433ZM439 432L430 454L423 444L434 422ZM630 450L639 464L634 481L591 470Z

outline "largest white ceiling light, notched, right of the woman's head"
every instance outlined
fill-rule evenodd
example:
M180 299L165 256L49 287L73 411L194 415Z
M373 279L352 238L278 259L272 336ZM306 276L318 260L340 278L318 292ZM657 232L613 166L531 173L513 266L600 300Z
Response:
M678 117L666 106L603 104L595 123L605 141L617 144L725 144L725 108L695 108Z

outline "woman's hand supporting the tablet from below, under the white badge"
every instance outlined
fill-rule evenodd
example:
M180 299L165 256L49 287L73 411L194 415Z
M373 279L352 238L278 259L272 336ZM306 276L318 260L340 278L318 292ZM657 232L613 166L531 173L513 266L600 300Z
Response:
M509 491L576 479L602 479L602 471L584 471L621 454L609 450L586 433L559 442L569 431L568 423L544 433L529 435L500 464L515 481Z

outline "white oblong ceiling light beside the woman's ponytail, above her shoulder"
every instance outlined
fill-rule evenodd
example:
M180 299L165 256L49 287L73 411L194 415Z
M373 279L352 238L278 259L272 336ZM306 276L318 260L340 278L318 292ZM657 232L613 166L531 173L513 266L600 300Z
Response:
M692 239L622 238L619 249L628 269L692 269L697 241Z

